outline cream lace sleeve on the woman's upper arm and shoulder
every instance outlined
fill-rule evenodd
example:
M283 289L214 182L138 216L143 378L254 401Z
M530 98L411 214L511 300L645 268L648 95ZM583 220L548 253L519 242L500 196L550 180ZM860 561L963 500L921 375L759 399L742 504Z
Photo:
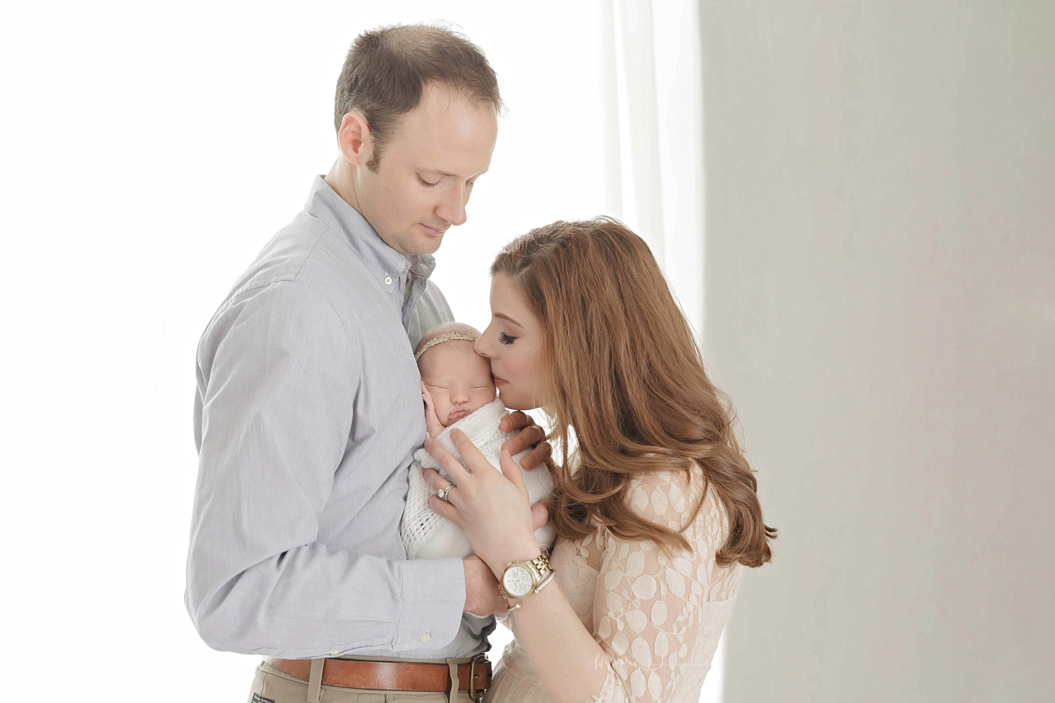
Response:
M630 505L640 516L678 529L702 483L697 474L690 490L677 473L641 476L631 485ZM740 581L738 565L714 563L726 533L725 511L709 493L683 532L691 553L667 556L653 542L603 536L593 622L610 666L603 687L588 703L698 697Z

